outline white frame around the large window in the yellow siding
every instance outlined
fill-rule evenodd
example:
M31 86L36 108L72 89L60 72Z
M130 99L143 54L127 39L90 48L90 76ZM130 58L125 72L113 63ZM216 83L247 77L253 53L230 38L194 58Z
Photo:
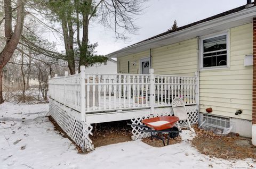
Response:
M215 38L215 37L219 37L219 36L223 36L226 35L227 39L227 65L225 66L213 66L213 67L204 67L204 61L203 61L203 51L204 51L204 44L203 41L205 39L211 39L211 38ZM229 69L230 67L230 33L229 30L226 31L222 31L222 32L218 32L218 33L214 33L211 35L206 35L206 36L202 36L199 39L199 50L200 50L200 55L199 55L199 61L200 61L200 70L217 70L217 69Z

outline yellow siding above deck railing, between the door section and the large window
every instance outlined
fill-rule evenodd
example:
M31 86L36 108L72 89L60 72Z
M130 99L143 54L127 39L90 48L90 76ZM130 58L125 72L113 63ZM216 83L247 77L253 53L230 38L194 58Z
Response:
M197 38L159 47L151 52L155 74L193 76L197 71Z

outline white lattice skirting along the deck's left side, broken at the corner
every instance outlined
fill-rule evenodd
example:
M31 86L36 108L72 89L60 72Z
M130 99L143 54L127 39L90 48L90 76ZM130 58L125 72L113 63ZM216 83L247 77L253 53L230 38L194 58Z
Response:
M50 99L50 115L61 129L79 146L83 151L93 150L92 126L80 119L80 113Z

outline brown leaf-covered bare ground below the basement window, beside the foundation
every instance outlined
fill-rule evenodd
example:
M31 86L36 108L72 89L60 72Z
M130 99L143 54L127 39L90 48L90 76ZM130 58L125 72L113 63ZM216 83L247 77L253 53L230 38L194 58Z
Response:
M197 125L193 128L197 136L191 144L202 154L223 159L256 159L256 147L251 144L250 138L239 137L238 134L220 136L199 129Z

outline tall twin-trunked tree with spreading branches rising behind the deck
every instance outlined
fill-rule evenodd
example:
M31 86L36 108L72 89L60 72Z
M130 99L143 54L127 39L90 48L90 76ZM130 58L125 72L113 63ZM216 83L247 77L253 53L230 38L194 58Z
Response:
M107 28L113 28L116 38L126 39L127 33L134 33L138 29L134 24L135 15L141 14L145 1L51 0L41 3L46 8L44 12L38 12L61 23L61 38L65 44L69 70L74 74L76 59L79 60L78 69L80 65L89 66L107 60L106 57L94 54L97 44L89 44L90 23L99 22Z

